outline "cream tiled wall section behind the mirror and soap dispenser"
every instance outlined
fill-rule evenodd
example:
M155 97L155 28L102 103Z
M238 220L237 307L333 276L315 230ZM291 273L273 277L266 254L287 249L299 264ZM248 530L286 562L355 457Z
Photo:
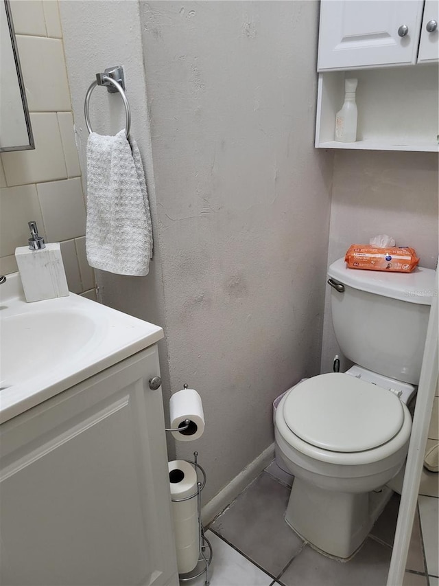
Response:
M95 299L58 1L10 4L35 149L0 155L0 273L17 270L15 248L34 220L47 242L61 243L70 291Z

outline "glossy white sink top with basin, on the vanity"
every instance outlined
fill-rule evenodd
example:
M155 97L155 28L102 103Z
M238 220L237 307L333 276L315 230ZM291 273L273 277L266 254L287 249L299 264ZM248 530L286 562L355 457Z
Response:
M0 286L0 422L151 346L163 330L70 293L26 303L19 273Z

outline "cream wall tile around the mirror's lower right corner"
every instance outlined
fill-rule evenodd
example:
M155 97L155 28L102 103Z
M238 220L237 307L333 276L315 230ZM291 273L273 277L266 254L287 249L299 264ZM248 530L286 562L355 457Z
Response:
M66 179L60 128L56 113L30 115L35 149L2 153L3 169L8 185L40 183Z

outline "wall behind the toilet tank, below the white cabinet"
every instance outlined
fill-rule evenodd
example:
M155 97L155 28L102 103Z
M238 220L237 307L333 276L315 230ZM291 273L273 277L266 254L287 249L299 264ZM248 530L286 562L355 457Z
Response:
M353 243L371 236L394 236L396 245L413 247L420 265L436 268L438 259L438 155L342 151L335 155L328 264ZM331 322L327 286L322 372L340 354ZM342 358L342 370L350 363Z

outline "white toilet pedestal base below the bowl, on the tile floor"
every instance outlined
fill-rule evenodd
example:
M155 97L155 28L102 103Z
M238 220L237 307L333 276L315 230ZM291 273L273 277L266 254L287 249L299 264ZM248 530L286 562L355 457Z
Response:
M318 550L346 559L368 536L392 496L387 486L372 493L338 493L294 478L285 521Z

